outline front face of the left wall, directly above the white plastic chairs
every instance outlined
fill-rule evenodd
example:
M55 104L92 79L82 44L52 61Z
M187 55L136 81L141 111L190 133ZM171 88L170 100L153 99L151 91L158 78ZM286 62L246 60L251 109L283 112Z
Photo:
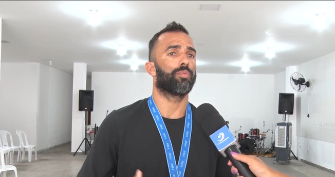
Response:
M0 129L11 132L16 146L17 129L36 144L39 67L38 63L6 62L1 66Z

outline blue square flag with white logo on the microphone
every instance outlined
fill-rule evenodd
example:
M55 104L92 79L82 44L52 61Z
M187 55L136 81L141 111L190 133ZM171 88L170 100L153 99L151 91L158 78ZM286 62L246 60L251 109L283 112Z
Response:
M226 125L215 131L214 134L210 136L210 138L219 151L227 148L230 144L236 141L235 137Z

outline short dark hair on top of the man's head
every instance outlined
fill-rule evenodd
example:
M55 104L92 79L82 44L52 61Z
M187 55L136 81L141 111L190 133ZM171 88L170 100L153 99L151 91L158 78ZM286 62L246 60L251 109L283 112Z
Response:
M187 35L189 35L189 31L185 29L184 26L180 25L179 23L176 23L176 21L172 21L170 24L167 24L166 27L162 29L160 32L156 33L149 42L149 61L155 61L155 57L152 56L153 49L156 45L158 37L165 32L184 32Z

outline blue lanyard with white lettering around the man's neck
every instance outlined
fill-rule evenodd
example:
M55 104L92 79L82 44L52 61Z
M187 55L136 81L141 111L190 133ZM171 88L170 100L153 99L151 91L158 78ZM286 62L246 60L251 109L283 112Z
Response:
M164 144L166 161L167 161L167 166L169 167L170 177L183 177L185 173L185 169L186 169L187 160L189 157L189 149L190 149L190 142L191 142L191 132L192 132L191 105L190 103L188 103L188 106L186 109L184 134L182 138L178 166L176 164L176 158L173 152L173 147L172 147L172 143L169 137L169 133L167 132L162 116L160 115L159 110L152 96L148 99L148 105L150 108L150 112L155 120L160 137L162 138L162 141Z

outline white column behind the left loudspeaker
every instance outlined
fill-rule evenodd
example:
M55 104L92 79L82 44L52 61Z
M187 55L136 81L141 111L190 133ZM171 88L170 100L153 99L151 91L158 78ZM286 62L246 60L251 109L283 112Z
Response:
M72 91L72 137L71 152L76 152L78 146L84 139L85 135L85 112L79 109L79 90L86 90L86 63L73 63L73 91ZM84 144L81 149L84 150ZM79 149L79 153L81 154Z

